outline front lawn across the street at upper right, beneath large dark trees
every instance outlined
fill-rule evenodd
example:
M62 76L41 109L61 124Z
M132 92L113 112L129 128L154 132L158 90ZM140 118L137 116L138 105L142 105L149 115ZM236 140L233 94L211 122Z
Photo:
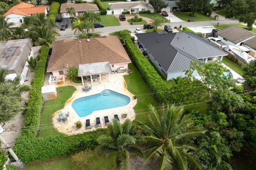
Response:
M208 17L202 13L195 12L195 16L189 16L190 12L174 12L175 16L180 18L183 21L193 20L193 21L209 21L214 20L213 17Z

